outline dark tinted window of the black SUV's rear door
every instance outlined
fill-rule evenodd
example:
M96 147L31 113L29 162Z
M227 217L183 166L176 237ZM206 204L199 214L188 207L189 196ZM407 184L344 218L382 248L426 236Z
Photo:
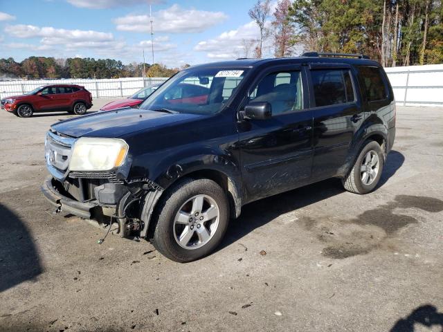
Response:
M316 107L354 102L354 87L348 69L311 71Z

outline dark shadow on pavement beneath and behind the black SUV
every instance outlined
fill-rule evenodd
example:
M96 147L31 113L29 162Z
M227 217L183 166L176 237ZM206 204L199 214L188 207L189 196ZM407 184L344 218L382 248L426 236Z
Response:
M381 187L389 178L395 175L401 165L403 165L404 160L404 155L399 151L390 152L378 187ZM224 241L222 241L218 250L242 239L242 237L255 230L255 228L260 228L281 214L329 199L332 196L341 194L343 191L341 180L330 178L247 204L242 208L242 215L239 219L231 221L231 227L228 228Z

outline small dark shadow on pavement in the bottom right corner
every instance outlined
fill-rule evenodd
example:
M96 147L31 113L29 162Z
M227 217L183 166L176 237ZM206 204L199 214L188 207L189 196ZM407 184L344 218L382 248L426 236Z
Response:
M428 328L440 326L443 331L443 313L437 312L437 308L431 304L419 306L408 317L398 320L390 332L414 332L415 325L423 325ZM421 330L420 330L421 331ZM434 331L434 330L433 330Z

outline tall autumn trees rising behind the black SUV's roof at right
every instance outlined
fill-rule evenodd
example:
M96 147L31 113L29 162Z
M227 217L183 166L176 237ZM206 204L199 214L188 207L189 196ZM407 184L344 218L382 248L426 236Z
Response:
M383 66L443 62L442 0L257 0L248 14L260 28L243 56L302 51L361 53ZM269 40L270 39L270 40Z

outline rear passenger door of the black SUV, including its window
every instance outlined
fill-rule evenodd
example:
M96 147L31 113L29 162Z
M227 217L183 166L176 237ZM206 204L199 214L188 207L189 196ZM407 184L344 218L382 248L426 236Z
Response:
M313 181L340 174L354 133L363 122L356 82L347 64L311 64L309 86L314 112Z

